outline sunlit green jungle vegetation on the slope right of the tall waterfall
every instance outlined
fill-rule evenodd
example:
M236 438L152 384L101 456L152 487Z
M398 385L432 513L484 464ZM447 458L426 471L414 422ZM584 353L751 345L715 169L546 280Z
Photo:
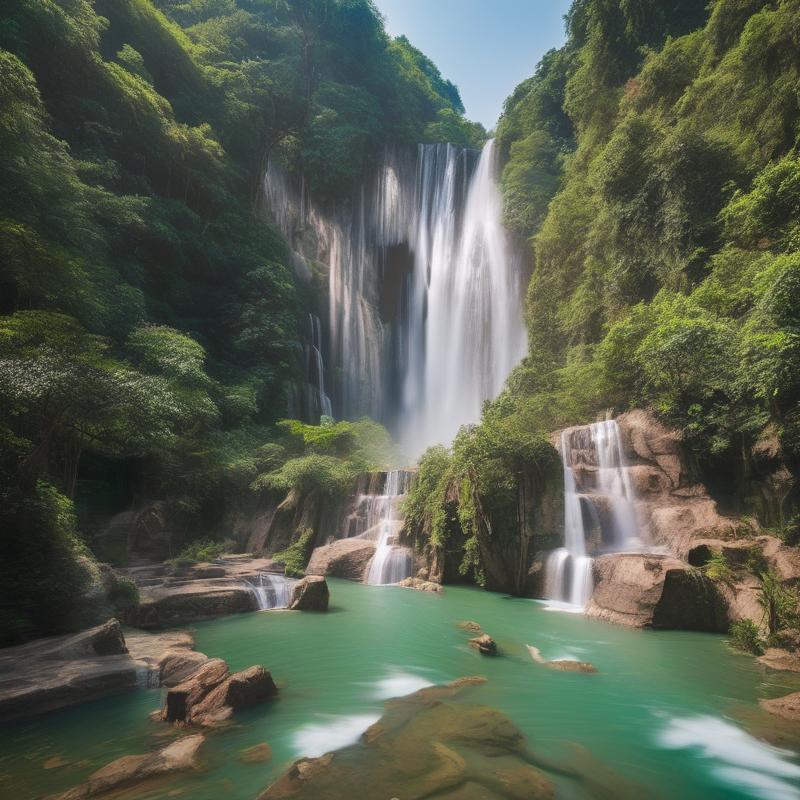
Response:
M519 536L547 432L643 405L729 510L793 541L794 494L752 482L800 459L800 3L576 0L567 34L496 132L529 354L426 454L409 519L442 547L457 518L480 579L473 532Z

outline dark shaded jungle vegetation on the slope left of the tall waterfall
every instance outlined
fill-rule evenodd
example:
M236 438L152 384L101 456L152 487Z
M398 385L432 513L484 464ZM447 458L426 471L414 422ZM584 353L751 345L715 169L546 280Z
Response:
M302 459L302 434L275 423L316 287L259 214L267 155L334 203L387 143L484 132L370 0L4 4L0 98L0 628L13 639L76 624L90 547L124 559L93 539L95 517L163 498L179 546ZM312 445L273 483L375 466L359 430L383 434L348 426L332 428L335 452Z

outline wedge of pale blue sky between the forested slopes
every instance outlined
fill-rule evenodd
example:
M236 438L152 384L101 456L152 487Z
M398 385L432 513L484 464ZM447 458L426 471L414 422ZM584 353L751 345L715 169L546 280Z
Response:
M470 119L493 128L503 101L564 43L570 0L375 0L392 36L405 34L461 91Z

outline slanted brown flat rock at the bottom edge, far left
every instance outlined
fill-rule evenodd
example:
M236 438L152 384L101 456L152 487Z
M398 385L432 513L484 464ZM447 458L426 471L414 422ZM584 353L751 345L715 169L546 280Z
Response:
M198 767L198 751L205 736L185 736L154 753L123 756L92 773L82 783L51 800L85 800L85 798L108 796L111 792L138 789L155 778ZM144 786L142 787L144 789Z

